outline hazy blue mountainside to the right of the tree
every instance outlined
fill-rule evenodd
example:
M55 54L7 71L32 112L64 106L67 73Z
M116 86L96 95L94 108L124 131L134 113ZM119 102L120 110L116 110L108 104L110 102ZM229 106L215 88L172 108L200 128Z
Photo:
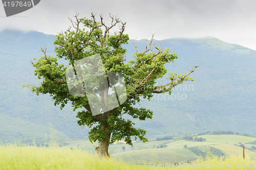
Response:
M136 41L139 51L145 49L145 43ZM174 63L166 65L168 71L183 74L193 65L202 66L191 74L194 82L183 83L171 96L158 94L150 102L141 102L141 106L154 111L154 116L138 123L140 127L148 128L152 136L214 130L255 135L255 51L214 37L172 38L155 43L161 43L162 48L174 47L178 55ZM127 45L129 50L132 47ZM166 83L166 79L158 83Z

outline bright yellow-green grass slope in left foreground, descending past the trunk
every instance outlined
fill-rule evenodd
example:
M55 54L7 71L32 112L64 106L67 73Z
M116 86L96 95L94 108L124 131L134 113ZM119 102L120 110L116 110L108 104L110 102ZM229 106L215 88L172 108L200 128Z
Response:
M147 169L115 159L99 159L81 150L66 147L0 146L0 169Z

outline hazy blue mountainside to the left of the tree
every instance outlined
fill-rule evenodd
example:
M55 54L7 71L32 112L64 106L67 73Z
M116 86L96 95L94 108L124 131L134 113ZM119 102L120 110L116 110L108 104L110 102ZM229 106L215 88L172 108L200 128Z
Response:
M77 125L76 113L71 107L60 110L59 106L53 105L49 95L37 96L29 88L23 87L26 84L39 84L30 60L42 56L40 47L46 46L47 51L54 55L54 39L54 35L39 32L6 30L0 34L0 115L8 116L0 119L0 134L9 133L12 139L19 138L20 135L14 133L15 127L19 131L23 129L27 138L45 138L45 135L50 136L49 125L52 125L54 130L62 134L59 135L60 140L88 139L88 129ZM30 129L24 128L26 124L30 125ZM0 136L2 142L8 139L8 135Z

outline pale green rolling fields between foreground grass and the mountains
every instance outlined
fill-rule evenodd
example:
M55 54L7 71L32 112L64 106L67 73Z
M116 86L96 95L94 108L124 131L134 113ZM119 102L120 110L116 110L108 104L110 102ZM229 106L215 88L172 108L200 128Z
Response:
M195 136L194 136L195 137ZM146 143L134 142L133 146L127 145L124 142L118 144L111 144L109 146L110 154L120 160L129 163L147 163L147 162L186 162L188 160L198 159L198 156L187 148L211 146L223 151L228 156L242 156L243 148L234 145L241 143L248 143L256 140L254 137L240 136L240 135L200 135L206 141L195 140L151 140ZM66 141L70 148L80 148L86 150L91 154L96 154L95 147L98 143L91 143L88 140ZM160 145L165 145L165 148L160 148ZM251 148L253 144L245 144L247 148ZM256 145L253 145L256 147ZM123 150L122 147L125 147ZM159 147L159 148L157 148ZM256 152L245 149L248 158L254 157Z

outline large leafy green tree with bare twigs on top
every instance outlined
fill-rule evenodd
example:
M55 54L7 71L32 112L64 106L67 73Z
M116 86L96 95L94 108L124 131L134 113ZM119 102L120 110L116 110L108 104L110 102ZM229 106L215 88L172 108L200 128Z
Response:
M127 44L129 40L129 36L124 34L126 22L122 22L119 18L110 15L112 21L109 26L103 21L102 15L97 20L96 15L93 13L90 19L78 18L78 14L74 18L75 20L69 18L72 26L67 31L56 35L54 44L58 46L55 47L54 52L57 57L49 56L46 48L41 48L44 56L37 61L31 61L35 67L35 76L38 79L42 79L41 84L39 86L25 86L30 87L31 91L36 92L37 95L39 93L49 93L52 96L54 105L60 105L60 109L65 107L68 102L72 104L73 111L78 108L84 108L85 110L77 112L78 125L91 128L89 140L91 142L99 142L97 153L100 156L109 156L109 144L121 139L124 139L126 144L130 145L132 145L132 136L135 136L135 140L139 138L143 142L148 141L144 137L146 131L136 129L134 127L135 124L129 119L124 119L122 115L129 114L133 118L139 118L139 120L152 118L152 111L133 107L133 105L140 102L140 96L150 100L154 93L168 92L170 95L173 87L184 81L193 81L188 75L194 72L198 66L194 66L193 69L189 70L188 74L184 75L170 72L167 84L155 85L156 80L167 73L164 64L174 62L174 59L177 59L175 52L170 53L169 48L163 50L161 46L155 45L155 43L153 47L153 37L150 41L146 41L146 50L139 52L136 41L134 41L137 50L133 55L135 59L130 60L129 64L124 64L126 49L121 45ZM119 26L118 31L112 32L117 26ZM106 74L116 72L123 75L126 93L125 96L122 96L125 97L123 104L112 110L93 115L87 95L74 96L70 94L66 77L68 67L59 64L57 60L58 58L65 58L69 61L69 65L75 68L74 64L77 61L97 54L101 57ZM81 77L75 69L74 72L75 76ZM82 88L86 82L79 79L78 83L80 84L74 84L74 87L87 94L88 91ZM108 85L110 86L110 84L109 82ZM108 97L108 92L107 88L107 90L99 94L99 98L104 105L109 104L105 100ZM119 96L116 97L118 98Z

